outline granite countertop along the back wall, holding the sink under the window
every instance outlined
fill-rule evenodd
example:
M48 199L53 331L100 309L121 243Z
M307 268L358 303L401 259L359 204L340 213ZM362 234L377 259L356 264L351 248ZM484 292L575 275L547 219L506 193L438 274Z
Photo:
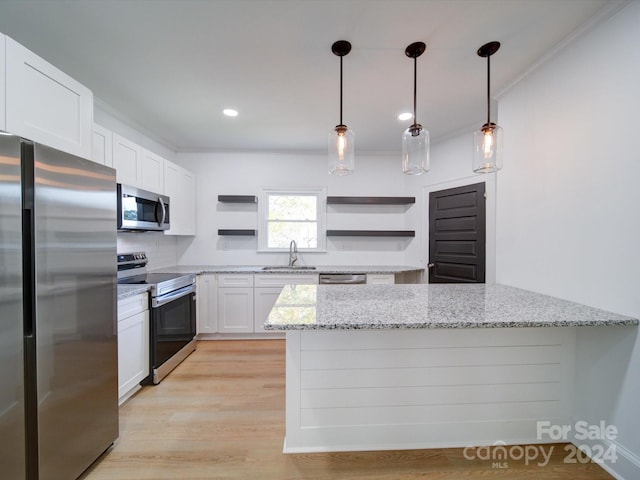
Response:
M314 269L307 268L282 268L284 265L276 265L274 270L264 270L265 267L274 265L177 265L174 267L156 268L153 272L163 273L404 273L419 272L422 267L394 266L394 265L317 265Z

